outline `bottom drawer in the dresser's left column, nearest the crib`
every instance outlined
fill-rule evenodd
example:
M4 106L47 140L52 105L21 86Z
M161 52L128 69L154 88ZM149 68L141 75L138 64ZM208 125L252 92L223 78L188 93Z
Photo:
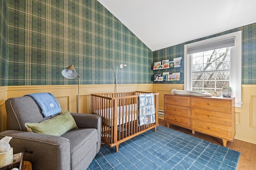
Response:
M164 113L164 120L168 121L169 123L172 123L174 125L184 127L187 129L191 129L191 118L174 115L171 113Z

